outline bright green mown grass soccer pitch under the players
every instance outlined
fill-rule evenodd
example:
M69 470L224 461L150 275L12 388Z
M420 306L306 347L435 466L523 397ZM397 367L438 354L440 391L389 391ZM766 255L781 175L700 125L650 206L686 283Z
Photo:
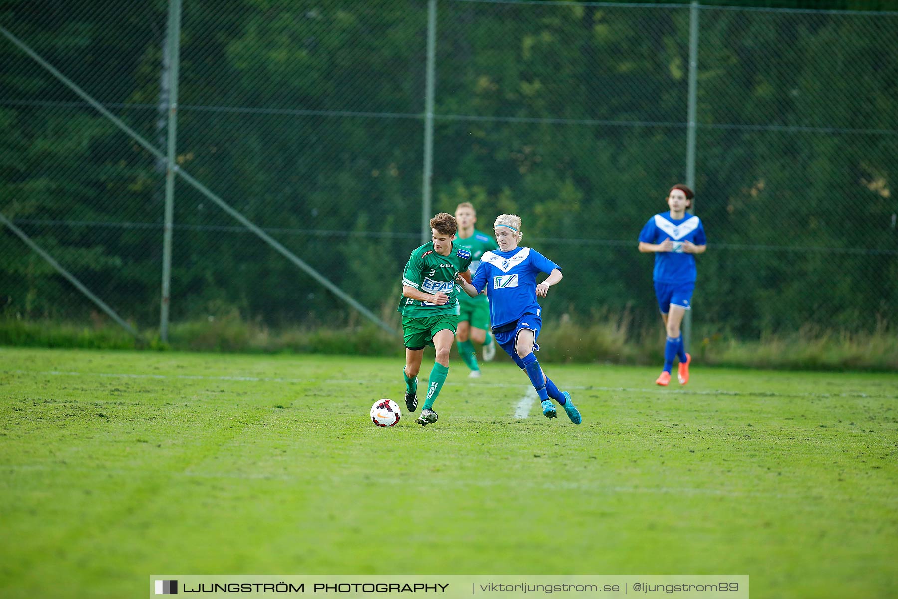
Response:
M426 355L422 379L429 365ZM748 574L898 596L898 377L461 363L419 427L401 361L0 348L0 595L183 574ZM426 383L422 381L422 389ZM678 386L675 385L674 386ZM515 418L524 410L526 418Z

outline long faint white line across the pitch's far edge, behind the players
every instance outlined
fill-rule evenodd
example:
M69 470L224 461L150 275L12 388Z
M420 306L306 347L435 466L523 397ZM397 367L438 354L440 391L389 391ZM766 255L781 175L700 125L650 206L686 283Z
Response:
M250 383L315 383L315 384L372 384L373 382L354 380L354 379L297 379L282 378L269 376L207 376L203 374L128 374L128 373L81 373L66 372L58 370L36 371L36 370L0 370L0 374L42 374L48 376L100 376L103 378L133 378L133 379L178 379L188 381L236 381ZM520 384L512 383L469 383L469 382L452 382L446 381L448 385L471 385L476 387L500 387L500 388L520 388ZM565 389L574 389L577 391L599 391L599 392L624 392L624 393L656 393L665 394L676 397L682 395L727 395L733 397L808 397L814 399L826 398L861 398L861 399L895 399L898 395L889 394L870 394L870 393L779 393L779 392L740 392L726 391L718 389L717 391L687 391L685 389L659 389L656 385L651 387L598 387L595 385L565 385Z

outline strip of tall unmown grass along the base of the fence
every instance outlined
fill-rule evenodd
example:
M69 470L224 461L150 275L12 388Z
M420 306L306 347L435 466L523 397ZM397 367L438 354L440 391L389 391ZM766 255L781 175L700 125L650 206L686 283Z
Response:
M660 366L664 330L631 330L629 315L596 313L589 322L563 317L543 327L541 362L609 363ZM691 353L702 366L737 366L788 370L898 371L898 336L885 329L867 335L800 330L791 336L736 339L727 333L694 336ZM45 348L169 349L180 351L330 354L402 358L402 340L369 322L328 327L270 329L246 321L236 310L207 318L172 323L169 340L145 330L142 339L102 319L90 326L68 322L0 319L0 345ZM500 356L497 359L506 359ZM432 356L432 354L429 354ZM453 360L457 358L453 349ZM427 359L430 359L429 357Z

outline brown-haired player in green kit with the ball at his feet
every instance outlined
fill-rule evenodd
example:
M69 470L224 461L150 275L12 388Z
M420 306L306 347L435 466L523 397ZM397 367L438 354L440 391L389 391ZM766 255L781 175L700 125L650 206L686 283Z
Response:
M427 379L427 396L418 416L419 425L436 422L434 402L446 374L449 352L458 325L458 287L455 277L471 268L471 252L454 243L458 225L455 217L441 212L430 219L431 241L411 252L402 273L402 336L405 345L405 407L418 408L418 371L424 348L436 350L434 366ZM469 273L470 275L470 273Z

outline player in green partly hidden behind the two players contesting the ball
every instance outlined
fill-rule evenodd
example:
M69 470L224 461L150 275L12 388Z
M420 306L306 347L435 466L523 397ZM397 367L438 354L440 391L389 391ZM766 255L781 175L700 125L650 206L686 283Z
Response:
M484 252L498 249L496 240L474 228L477 210L471 202L462 202L455 208L455 220L458 222L455 244L471 252L471 273L475 273L480 265L480 256ZM458 353L471 369L471 378L479 378L480 365L477 363L473 342L483 346L483 359L487 362L496 356L496 344L489 334L489 299L485 294L469 297L468 294L460 293L458 300L461 308L456 331Z

